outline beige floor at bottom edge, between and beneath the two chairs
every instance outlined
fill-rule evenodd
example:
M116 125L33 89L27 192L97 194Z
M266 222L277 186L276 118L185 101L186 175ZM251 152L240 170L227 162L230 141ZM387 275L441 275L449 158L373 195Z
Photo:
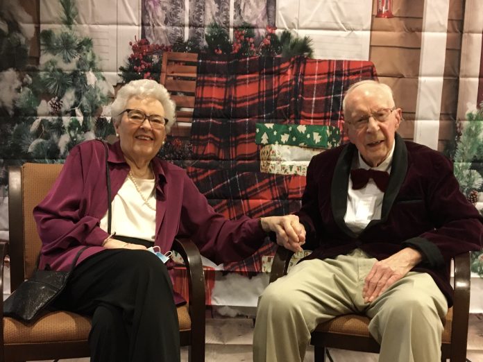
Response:
M253 322L249 318L208 318L206 325L206 362L252 361L251 343ZM371 353L330 350L334 362L377 362ZM472 314L468 329L468 361L483 362L483 314ZM89 359L69 359L63 362L88 362ZM181 361L188 361L187 349L181 352ZM314 361L312 348L305 361Z

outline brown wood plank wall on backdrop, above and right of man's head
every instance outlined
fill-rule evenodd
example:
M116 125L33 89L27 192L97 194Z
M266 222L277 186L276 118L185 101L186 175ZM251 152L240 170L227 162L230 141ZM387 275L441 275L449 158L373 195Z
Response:
M374 62L380 81L392 87L396 105L402 108L405 118L400 134L409 140L414 136L423 9L424 1L393 0L394 17L377 18L377 0L373 1L369 60ZM453 137L463 18L464 0L450 0L439 150L443 150L446 141Z

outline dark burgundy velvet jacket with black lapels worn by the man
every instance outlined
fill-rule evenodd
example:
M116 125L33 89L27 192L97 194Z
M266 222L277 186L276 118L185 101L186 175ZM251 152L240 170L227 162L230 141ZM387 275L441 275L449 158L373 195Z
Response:
M413 271L428 273L452 305L452 256L482 248L483 218L459 191L451 162L437 151L396 134L381 220L357 236L347 227L347 189L357 148L339 146L312 158L298 212L305 225L305 259L325 259L361 248L378 260L411 247L423 254ZM304 260L305 260L304 259Z

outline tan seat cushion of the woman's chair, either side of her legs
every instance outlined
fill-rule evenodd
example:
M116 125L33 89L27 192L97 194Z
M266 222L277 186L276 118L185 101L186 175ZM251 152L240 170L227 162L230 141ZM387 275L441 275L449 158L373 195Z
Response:
M191 329L187 304L178 307L180 331ZM90 318L67 311L46 313L32 325L12 318L3 318L3 338L6 345L46 343L52 341L87 341Z

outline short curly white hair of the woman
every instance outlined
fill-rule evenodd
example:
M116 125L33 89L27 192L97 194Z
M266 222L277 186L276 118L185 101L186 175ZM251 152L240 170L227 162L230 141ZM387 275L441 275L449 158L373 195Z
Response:
M119 89L111 105L111 116L116 125L121 121L121 112L126 110L126 104L132 97L150 97L160 101L164 108L164 117L168 119L166 133L171 132L171 127L176 123L176 104L171 101L171 96L163 85L150 79L131 80Z

